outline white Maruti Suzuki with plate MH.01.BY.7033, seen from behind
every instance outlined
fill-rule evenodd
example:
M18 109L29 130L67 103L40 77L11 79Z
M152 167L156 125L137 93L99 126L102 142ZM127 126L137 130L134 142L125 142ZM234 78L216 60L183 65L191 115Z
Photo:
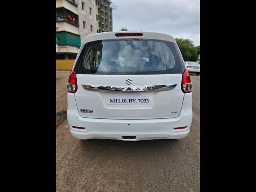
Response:
M67 118L75 138L181 139L190 132L192 83L170 35L87 36L67 88Z

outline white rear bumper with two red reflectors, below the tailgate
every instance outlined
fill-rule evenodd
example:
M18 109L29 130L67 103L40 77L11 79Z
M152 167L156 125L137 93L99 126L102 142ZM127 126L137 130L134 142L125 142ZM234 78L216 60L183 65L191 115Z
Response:
M75 101L68 98L67 118L71 134L78 139L123 139L122 136L136 136L128 141L150 139L181 139L190 132L192 122L192 94L185 94L182 110L176 118L164 119L97 119L83 118L77 111ZM74 108L74 106L75 108ZM72 106L71 106L72 105ZM72 126L85 127L75 129ZM187 126L174 130L175 127Z

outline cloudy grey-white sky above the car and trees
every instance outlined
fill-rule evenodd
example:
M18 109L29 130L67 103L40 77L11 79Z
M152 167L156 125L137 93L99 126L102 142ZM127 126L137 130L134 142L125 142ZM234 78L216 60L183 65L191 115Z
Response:
M162 32L200 45L200 0L111 0L113 31Z

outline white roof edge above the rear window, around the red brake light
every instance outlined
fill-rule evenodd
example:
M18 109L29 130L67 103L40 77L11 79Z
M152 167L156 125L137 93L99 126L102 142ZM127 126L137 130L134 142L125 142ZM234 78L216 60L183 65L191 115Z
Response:
M122 37L116 37L116 33L142 33L143 36L122 36ZM91 41L96 40L105 40L105 39L122 39L122 38L134 38L134 39L158 39L158 40L166 40L170 42L176 43L176 40L173 38L173 36L170 36L168 34L164 33L158 33L158 32L147 32L147 31L114 31L114 32L102 32L102 33L95 33L86 36L84 38L83 44Z

